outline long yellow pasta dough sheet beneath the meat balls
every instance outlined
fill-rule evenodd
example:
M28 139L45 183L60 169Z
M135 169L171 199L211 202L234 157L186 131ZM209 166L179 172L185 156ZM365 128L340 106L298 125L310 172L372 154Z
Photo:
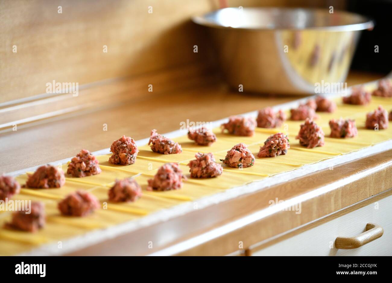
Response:
M218 140L210 147L196 145L187 136L174 138L183 149L181 154L158 154L152 152L148 145L139 147L140 152L133 165L113 165L108 162L110 154L98 156L102 173L85 178L67 176L65 186L60 189L22 189L12 200L43 201L46 207L47 224L44 229L35 233L4 229L5 222L10 221L11 211L0 211L0 255L14 255L27 252L44 243L60 243L65 239L85 234L94 229L104 229L144 217L152 212L179 205L185 201L194 201L205 196L216 194L232 187L260 181L274 174L295 170L303 165L316 163L341 154L358 151L375 143L383 142L392 137L392 125L386 130L373 131L365 129L366 113L383 105L387 111L392 109L392 99L372 97L367 106L343 105L337 100L338 109L334 113L319 113L316 123L325 132L325 146L306 149L295 139L301 121L286 121L280 129L257 128L252 137L222 134L219 128L214 129ZM289 113L287 113L289 114ZM328 121L332 118L354 118L358 127L358 136L350 139L329 138ZM290 149L286 155L276 158L258 158L260 146L270 134L283 131L290 139ZM113 137L113 140L116 137ZM256 156L254 166L236 169L223 165L223 174L218 178L191 179L187 163L194 159L196 152L212 152L216 161L225 157L226 152L237 143L246 143ZM76 153L75 153L76 154ZM158 168L165 162L178 162L188 177L180 190L166 192L149 192L147 180L152 178ZM62 166L67 171L67 164ZM134 203L110 203L107 192L115 179L133 177L141 185L143 196ZM27 175L22 174L16 179L24 184ZM75 190L86 190L94 194L102 203L102 208L93 214L83 217L61 216L57 203L67 194ZM59 244L60 245L60 244Z

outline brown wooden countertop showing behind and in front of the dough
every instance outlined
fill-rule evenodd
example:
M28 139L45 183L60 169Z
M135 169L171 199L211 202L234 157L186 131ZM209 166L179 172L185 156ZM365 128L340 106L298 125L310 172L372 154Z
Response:
M64 100L56 103L48 100L44 104L36 103L38 106L32 103L34 108L28 109L36 111L34 113L40 113L45 108L61 107L61 103L71 103L72 105L72 103L83 102L87 105L90 102L98 101L100 106L98 104L93 104L91 107L81 105L80 111L71 111L57 116L53 115L50 118L21 123L18 125L17 131L12 131L12 128L3 129L0 134L2 145L0 148L0 172L11 172L62 160L74 156L82 148L90 151L107 148L113 140L123 134L139 140L147 138L151 129L154 128L162 133L177 130L180 127L180 122L187 119L190 121L214 121L231 114L241 114L301 98L301 96L239 94L227 89L223 83L216 83L217 80L220 81L216 76L210 76L209 73L206 75L209 77L207 80L193 78L190 73L180 72L176 77L177 82L173 85L173 82L169 82L166 76L158 74L155 79L159 78L160 83L154 84L152 93L145 91L151 80L151 76L146 76L138 78L136 86L134 80L127 79L103 85L93 85L80 91L79 100ZM190 78L186 79L187 77ZM347 82L348 85L353 85L376 80L380 77L377 74L351 73ZM11 114L15 113L11 112ZM20 113L16 114L15 117L20 115ZM107 124L107 131L103 131L103 124ZM339 214L341 213L339 211L356 203L356 205L360 205L358 202L363 202L374 195L385 194L386 190L392 187L391 179L387 177L392 172L391 154L392 151L388 151L342 164L337 166L333 172L329 170L315 172L269 187L266 190L247 194L235 200L225 201L164 223L140 229L105 243L87 247L74 252L73 255L93 255L97 254L97 250L102 255L149 254L151 251L145 249L144 245L140 245L138 250L127 250L124 248L124 243L129 237L135 239L149 235L153 237L154 242L160 243L157 247L158 250L165 249L176 243L181 243L181 241L192 239L201 233L219 229L230 221L241 219L241 217L246 217L248 214L262 209L263 205L268 203L265 200L271 199L273 191L274 195L276 192L280 192L281 199L288 199L325 185L333 185L334 182L338 183L338 180L352 174L363 173L363 178L358 178L353 183L343 187L337 185L336 189L328 194L319 195L302 203L303 209L307 209L309 213L301 214L301 217L296 217L295 221L294 218L292 219L288 217L288 214L285 214L285 221L279 222L282 218L279 218L280 214L276 213L245 225L241 229L210 239L203 245L196 245L176 254L223 255L236 252L239 240L245 241L245 248L254 246L262 240L277 236L289 229L296 229L312 221L325 221L328 215ZM382 169L372 171L380 166ZM367 174L368 171L369 174ZM358 186L362 188L360 194L358 194ZM260 205L261 203L263 205ZM320 203L323 203L322 209L318 206ZM199 221L195 222L196 219ZM175 237L173 233L171 235L171 239L174 239L172 241L166 241L162 238L165 234L161 232L167 227L171 227L175 234ZM262 229L263 227L264 229ZM224 245L218 245L218 243L224 243Z

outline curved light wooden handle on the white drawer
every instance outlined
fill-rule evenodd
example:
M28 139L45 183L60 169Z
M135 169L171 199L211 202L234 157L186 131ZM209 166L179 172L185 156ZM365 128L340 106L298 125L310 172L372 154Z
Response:
M381 226L374 223L367 223L366 232L351 238L338 237L335 240L335 247L336 249L343 250L356 249L380 238L383 234L384 230Z

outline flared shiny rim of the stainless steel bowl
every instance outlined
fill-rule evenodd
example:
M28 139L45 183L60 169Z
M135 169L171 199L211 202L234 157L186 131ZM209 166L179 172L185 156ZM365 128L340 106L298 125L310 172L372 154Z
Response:
M209 13L203 13L202 15L197 15L192 17L192 21L195 24L202 25L205 27L213 27L218 29L236 29L236 30L249 30L249 31L283 31L283 30L292 30L292 31L301 31L301 30L323 30L323 31L361 31L364 29L373 29L374 28L374 20L359 15L357 13L351 13L347 11L334 11L334 14L340 15L350 15L356 16L359 18L360 22L355 24L347 24L347 25L326 25L320 27L231 27L218 24L216 22L211 22L205 18L207 15L216 14L219 11L227 10L227 9L238 9L237 7L228 7L223 9L214 10ZM265 11L303 11L303 12L321 12L321 13L329 13L329 9L316 9L316 8L288 8L288 7L243 7L243 10L265 10Z

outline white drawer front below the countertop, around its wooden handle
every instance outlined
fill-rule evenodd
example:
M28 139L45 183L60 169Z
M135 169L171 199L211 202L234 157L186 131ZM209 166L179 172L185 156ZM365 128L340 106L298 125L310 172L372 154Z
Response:
M357 236L366 231L367 223L380 225L384 229L383 236L357 249L336 249L337 237ZM264 249L254 250L253 256L391 256L392 195Z

